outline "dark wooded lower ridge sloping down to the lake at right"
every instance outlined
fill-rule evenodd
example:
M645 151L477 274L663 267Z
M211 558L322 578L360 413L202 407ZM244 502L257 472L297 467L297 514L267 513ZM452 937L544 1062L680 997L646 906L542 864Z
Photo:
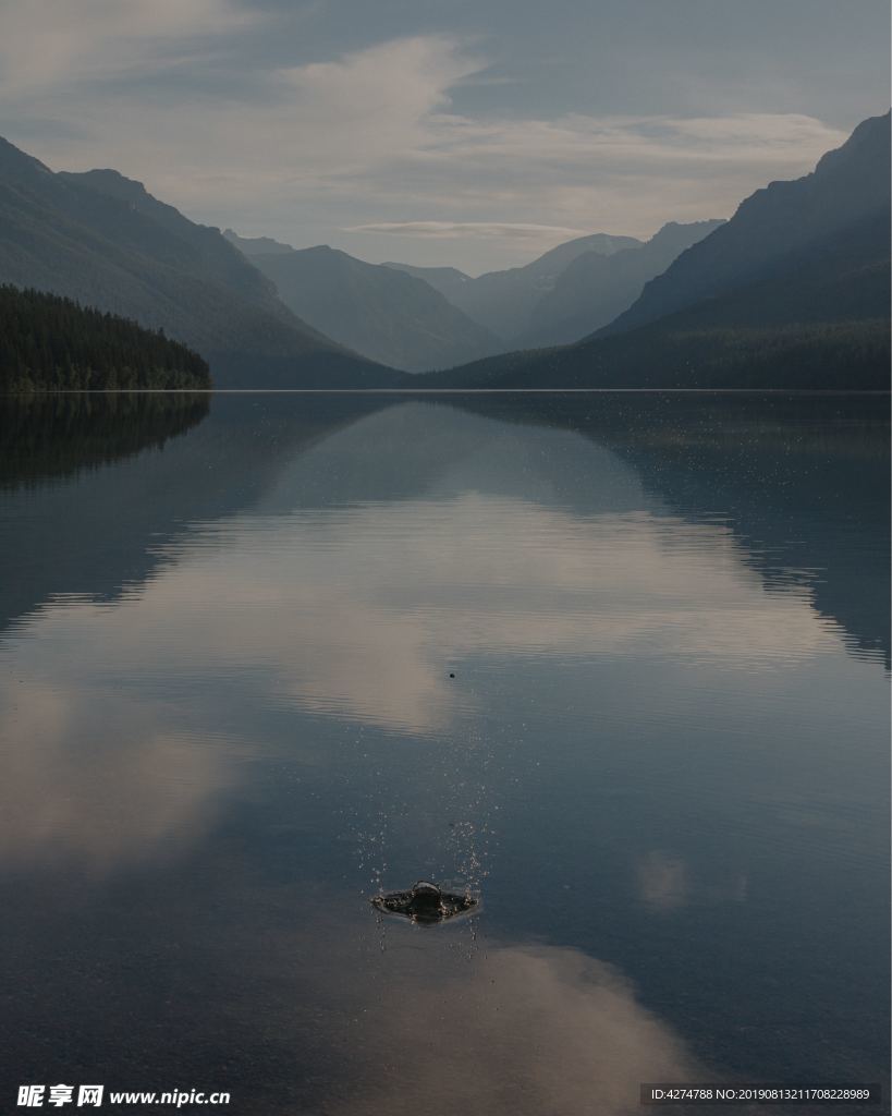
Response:
M889 235L888 219L869 221L724 298L627 333L477 362L425 386L888 389Z

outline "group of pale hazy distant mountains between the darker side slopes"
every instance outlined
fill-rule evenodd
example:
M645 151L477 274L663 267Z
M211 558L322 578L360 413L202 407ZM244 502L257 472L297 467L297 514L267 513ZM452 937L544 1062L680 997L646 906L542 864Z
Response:
M476 279L455 268L366 263L327 246L295 250L231 229L224 235L328 337L390 367L430 372L579 340L631 306L648 279L718 224L668 224L647 243L594 233Z

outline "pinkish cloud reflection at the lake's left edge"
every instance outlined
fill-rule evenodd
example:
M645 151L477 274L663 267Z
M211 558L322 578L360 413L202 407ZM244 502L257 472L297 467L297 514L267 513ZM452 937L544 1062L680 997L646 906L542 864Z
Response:
M200 747L165 710L32 676L0 687L0 864L101 876L202 835L232 782L230 745Z

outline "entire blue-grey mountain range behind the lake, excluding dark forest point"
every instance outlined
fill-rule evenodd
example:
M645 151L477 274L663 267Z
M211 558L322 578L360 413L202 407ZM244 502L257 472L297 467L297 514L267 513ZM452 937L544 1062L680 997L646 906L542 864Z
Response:
M727 222L593 233L477 278L224 235L0 141L0 283L163 328L217 386L884 387L889 126Z

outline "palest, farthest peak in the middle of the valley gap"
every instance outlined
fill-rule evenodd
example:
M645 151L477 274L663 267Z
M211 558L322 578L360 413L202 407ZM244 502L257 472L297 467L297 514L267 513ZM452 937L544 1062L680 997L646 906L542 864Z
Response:
M610 237L601 232L579 237L558 244L522 268L466 278L465 282L452 288L447 298L474 321L507 341L526 328L533 308L554 288L558 277L576 257L585 252L610 256L640 243L633 237ZM418 269L415 273L419 273Z

